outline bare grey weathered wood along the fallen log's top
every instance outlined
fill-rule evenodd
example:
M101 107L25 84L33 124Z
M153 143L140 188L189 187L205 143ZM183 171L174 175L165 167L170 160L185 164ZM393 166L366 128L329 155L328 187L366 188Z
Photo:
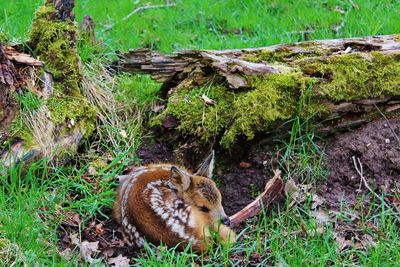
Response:
M265 75L284 73L287 66L271 65L269 62L252 63L243 60L259 52L285 51L293 57L293 67L297 55L303 60L329 57L332 55L368 53L379 51L385 54L400 53L399 35L382 35L363 38L332 39L321 41L281 44L261 48L233 50L183 50L173 55L162 55L149 49L136 49L122 54L115 67L125 72L140 72L151 74L159 82L174 79L179 84L198 68L211 67L215 72L225 77L232 88L247 87L241 75ZM307 59L308 58L308 59ZM290 63L290 61L288 62Z

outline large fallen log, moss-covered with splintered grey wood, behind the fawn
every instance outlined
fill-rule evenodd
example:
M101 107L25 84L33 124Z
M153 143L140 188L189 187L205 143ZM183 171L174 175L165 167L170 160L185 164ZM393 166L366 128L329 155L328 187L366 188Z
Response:
M152 125L224 148L281 134L299 112L334 132L400 110L400 35L173 55L139 49L114 66L163 83L166 108Z

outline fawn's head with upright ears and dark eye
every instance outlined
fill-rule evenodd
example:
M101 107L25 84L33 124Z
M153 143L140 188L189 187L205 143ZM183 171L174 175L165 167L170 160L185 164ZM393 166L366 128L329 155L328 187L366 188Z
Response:
M178 189L178 195L194 209L209 216L212 223L219 220L225 225L230 224L222 207L221 193L215 182L211 180L214 169L214 151L201 164L195 174L189 174L179 168L171 167L171 182Z

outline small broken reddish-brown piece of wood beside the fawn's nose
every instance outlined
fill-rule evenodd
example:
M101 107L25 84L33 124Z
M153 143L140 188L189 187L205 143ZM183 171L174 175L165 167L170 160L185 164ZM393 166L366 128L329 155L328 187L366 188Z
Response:
M271 203L283 195L283 189L284 184L281 180L281 172L276 170L274 177L265 185L264 192L249 205L229 217L231 225L235 227L245 220L260 214L263 210L268 210Z

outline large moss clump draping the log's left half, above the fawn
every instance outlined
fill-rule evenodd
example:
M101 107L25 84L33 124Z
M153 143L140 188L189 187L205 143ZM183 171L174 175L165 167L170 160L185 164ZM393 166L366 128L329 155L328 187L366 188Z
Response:
M254 138L277 120L290 118L296 109L296 99L307 88L311 78L300 73L248 77L254 90L233 92L223 85L210 88L183 89L169 98L166 110L179 120L177 130L194 135L201 142L212 142L222 134L220 144L233 145L238 136ZM207 106L201 100L206 94L216 101ZM160 124L158 117L153 124Z

